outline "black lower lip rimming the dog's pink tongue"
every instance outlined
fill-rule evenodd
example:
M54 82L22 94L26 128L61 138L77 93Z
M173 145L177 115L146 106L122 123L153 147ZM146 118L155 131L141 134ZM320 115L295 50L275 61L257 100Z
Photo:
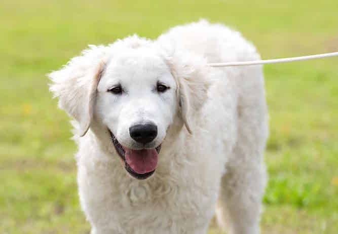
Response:
M144 174L139 174L139 173L136 173L133 169L130 168L130 166L128 165L128 163L126 162L126 159L125 159L125 154L126 154L126 151L123 149L122 145L119 143L119 141L116 139L116 137L114 136L114 134L112 134L112 132L108 129L109 131L109 134L110 134L110 137L111 137L111 141L112 141L112 144L114 144L114 147L116 149L116 151L118 152L120 158L123 160L123 162L125 163L125 169L126 171L134 178L136 179L146 179L148 177L150 177L151 175L154 174L155 170L154 171L151 171L151 172L147 172L147 173L144 173ZM158 153L160 153L160 150L161 150L161 144L159 146L157 146L156 148L156 151Z

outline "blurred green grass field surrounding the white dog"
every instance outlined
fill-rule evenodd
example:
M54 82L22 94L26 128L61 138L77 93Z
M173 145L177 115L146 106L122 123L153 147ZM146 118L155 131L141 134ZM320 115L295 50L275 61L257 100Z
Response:
M89 233L76 146L45 74L88 44L209 19L263 58L338 51L336 0L0 2L0 233ZM338 58L266 65L270 182L262 233L337 233ZM209 234L221 233L214 223Z

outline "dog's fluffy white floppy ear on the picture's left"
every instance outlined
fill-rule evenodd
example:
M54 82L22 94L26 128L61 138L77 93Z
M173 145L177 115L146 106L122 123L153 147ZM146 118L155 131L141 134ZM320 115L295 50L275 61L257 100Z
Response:
M50 91L59 98L59 107L79 123L80 136L87 133L93 119L97 85L105 65L103 57L103 46L91 46L82 56L48 74L53 82Z

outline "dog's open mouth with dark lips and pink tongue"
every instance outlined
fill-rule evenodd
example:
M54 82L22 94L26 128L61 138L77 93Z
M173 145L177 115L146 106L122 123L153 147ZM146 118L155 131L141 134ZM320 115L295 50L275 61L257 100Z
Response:
M146 179L154 174L158 163L161 144L151 149L131 149L122 146L108 129L112 143L118 152L126 171L136 179Z

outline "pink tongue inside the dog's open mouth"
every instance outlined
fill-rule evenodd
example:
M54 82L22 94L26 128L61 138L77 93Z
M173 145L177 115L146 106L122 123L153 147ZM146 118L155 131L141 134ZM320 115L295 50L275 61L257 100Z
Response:
M123 147L126 151L126 163L138 174L144 174L154 171L159 160L159 154L156 149L128 149Z

